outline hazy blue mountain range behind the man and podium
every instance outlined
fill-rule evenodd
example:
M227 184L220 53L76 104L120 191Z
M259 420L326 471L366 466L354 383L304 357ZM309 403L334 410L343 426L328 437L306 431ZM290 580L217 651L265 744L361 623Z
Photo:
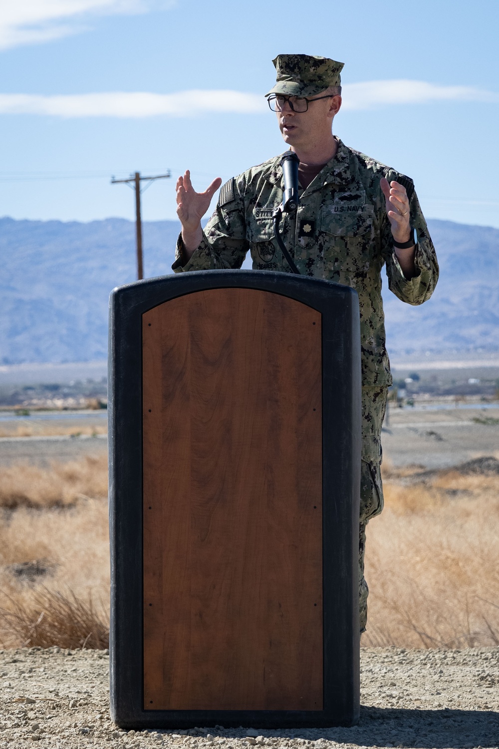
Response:
M499 229L429 220L441 275L412 307L383 297L388 350L499 348ZM144 222L144 274L171 273L180 225ZM0 219L0 363L105 359L108 296L135 279L135 224Z

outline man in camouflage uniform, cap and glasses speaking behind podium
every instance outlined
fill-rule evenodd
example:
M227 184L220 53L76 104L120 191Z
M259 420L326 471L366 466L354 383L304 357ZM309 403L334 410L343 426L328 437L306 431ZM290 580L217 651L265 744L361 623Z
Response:
M331 132L341 106L343 63L310 55L278 55L274 64L277 82L266 96L284 141L301 162L299 207L284 216L284 243L301 273L352 286L360 303L359 597L364 631L365 529L383 507L380 434L391 385L380 272L386 264L389 288L402 302L421 304L435 288L438 264L411 179L352 151ZM240 268L249 250L254 270L290 272L272 228L272 213L284 191L281 157L228 181L204 231L200 219L221 180L198 193L189 172L179 178L177 214L182 233L173 270Z

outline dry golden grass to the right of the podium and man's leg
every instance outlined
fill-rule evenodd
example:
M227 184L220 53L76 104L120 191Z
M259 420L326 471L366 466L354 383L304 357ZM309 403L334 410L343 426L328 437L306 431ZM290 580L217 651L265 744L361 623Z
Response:
M499 476L386 473L385 510L367 530L362 644L499 645Z

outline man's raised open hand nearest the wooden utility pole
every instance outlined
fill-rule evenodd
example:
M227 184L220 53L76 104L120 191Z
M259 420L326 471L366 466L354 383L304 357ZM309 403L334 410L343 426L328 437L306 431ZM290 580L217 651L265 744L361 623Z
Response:
M196 192L192 187L189 169L177 180L177 216L182 223L182 240L188 259L203 239L201 219L220 185L221 179L217 177L204 192Z

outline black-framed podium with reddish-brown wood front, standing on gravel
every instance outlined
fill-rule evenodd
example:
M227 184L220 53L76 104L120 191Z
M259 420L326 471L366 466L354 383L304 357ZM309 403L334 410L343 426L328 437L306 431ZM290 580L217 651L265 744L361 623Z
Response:
M208 270L114 289L111 715L123 728L359 715L358 296Z

